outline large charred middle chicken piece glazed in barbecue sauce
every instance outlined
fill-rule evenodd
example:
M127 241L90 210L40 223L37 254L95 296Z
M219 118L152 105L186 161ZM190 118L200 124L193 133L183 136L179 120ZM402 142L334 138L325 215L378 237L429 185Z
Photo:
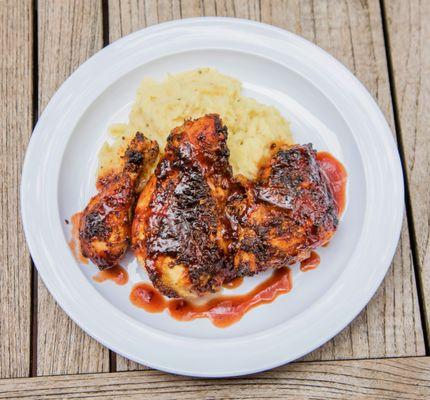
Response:
M227 129L218 115L186 121L137 203L132 244L168 297L216 292L232 274L225 202L232 179Z

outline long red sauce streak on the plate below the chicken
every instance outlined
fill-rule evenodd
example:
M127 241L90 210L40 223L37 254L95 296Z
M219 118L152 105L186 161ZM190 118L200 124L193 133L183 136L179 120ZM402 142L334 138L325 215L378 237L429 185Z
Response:
M204 304L194 304L184 299L166 301L151 285L140 283L130 293L131 302L148 312L161 312L165 308L178 321L192 321L208 318L219 327L225 328L238 322L248 311L273 302L279 295L288 293L292 288L289 268L274 271L266 281L260 283L249 293L237 296L219 296Z

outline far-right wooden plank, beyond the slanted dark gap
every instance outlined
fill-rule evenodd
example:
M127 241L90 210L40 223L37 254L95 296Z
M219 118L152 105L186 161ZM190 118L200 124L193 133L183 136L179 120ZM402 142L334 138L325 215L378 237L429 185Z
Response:
M430 2L390 0L385 1L385 11L424 315L430 332Z

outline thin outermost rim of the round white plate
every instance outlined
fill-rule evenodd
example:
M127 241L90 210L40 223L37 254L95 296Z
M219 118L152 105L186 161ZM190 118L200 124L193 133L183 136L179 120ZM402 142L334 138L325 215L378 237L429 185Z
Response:
M89 332L85 328L85 323L81 321L81 319L79 318L79 316L77 316L75 314L75 312L71 311L70 306L64 303L64 298L62 298L59 295L59 293L57 293L55 291L55 288L53 287L54 282L52 282L50 277L48 276L49 271L46 270L46 267L44 265L44 262L46 262L46 258L45 258L45 260L43 260L44 257L42 257L42 255L40 254L39 249L37 248L37 243L33 240L33 233L31 232L31 230L33 228L31 227L31 221L30 221L31 217L30 217L29 210L27 207L28 203L26 203L26 202L28 202L29 196L31 195L31 189L30 189L29 182L28 182L28 179L30 177L30 175L29 175L30 161L29 160L31 160L31 155L33 154L33 152L35 151L35 147L37 146L37 142L36 142L35 138L38 138L38 137L36 135L41 134L40 131L43 130L41 122L45 121L45 119L47 118L46 115L49 113L49 110L51 109L53 104L58 101L58 98L64 92L65 85L67 86L68 82L70 82L72 79L74 79L74 77L78 76L78 74L81 73L80 71L82 71L82 67L87 65L90 60L93 60L93 62L94 62L95 57L100 57L101 54L105 54L105 53L109 52L109 49L112 49L113 46L119 46L121 44L125 44L128 41L143 37L143 36L145 36L145 34L150 34L151 32L163 31L165 29L170 29L170 28L178 26L178 25L189 25L189 26L191 26L194 23L199 24L202 21L204 21L205 23L210 23L210 24L212 24L212 23L216 24L216 23L220 22L220 23L232 24L233 27L235 25L239 24L242 26L244 26L244 25L250 26L251 28L252 27L259 27L259 28L263 28L266 30L271 30L272 32L276 32L276 34L279 34L279 35L283 36L284 38L286 36L288 36L291 40L295 40L298 43L302 43L308 47L310 45L310 47L313 48L314 51L315 50L318 51L325 58L331 59L332 63L335 63L338 67L341 67L344 70L344 72L346 72L350 76L350 78L354 81L357 88L360 89L361 95L364 96L364 98L368 102L368 105L372 108L372 110L374 112L376 111L375 117L379 117L379 123L381 124L381 134L388 134L389 138L391 139L391 150L392 150L392 152L391 152L392 154L390 154L392 156L391 162L392 162L392 166L396 170L395 174L397 175L397 184L399 186L398 187L399 191L396 193L396 195L397 195L396 198L397 198L397 200L398 199L401 200L401 208L399 209L399 212L396 215L395 232L393 235L395 240L393 239L391 241L390 249L387 251L387 255L385 257L386 261L384 261L384 264L387 264L387 265L384 265L384 267L380 268L381 269L380 273L375 278L372 288L370 288L366 292L366 296L364 296L364 300L362 301L363 305L358 307L358 311L356 311L355 313L354 312L351 313L351 316L350 316L350 318L348 318L348 321L345 324L343 324L343 323L340 324L342 326L339 329L334 329L332 331L332 333L330 333L328 336L325 336L324 338L322 338L318 343L314 343L314 345L311 346L312 348L310 350L307 349L302 354L299 354L299 355L295 356L294 358L286 359L286 360L281 361L281 362L278 361L278 362L275 362L273 364L268 364L268 365L264 365L264 366L260 366L260 367L252 367L249 369L242 369L240 371L229 371L228 373L224 373L224 372L211 373L208 371L203 371L203 372L189 371L189 370L181 370L178 368L170 369L170 368L166 367L165 365L157 365L156 363L151 363L151 362L147 362L147 361L142 360L142 359L134 358L132 354L129 354L128 352L122 352L121 349L118 349L116 346L113 346L111 344L111 342L109 342L108 340L105 340L99 334L96 334L95 332ZM382 133L382 129L384 130L384 133ZM390 142L390 140L388 140L388 142ZM390 128L389 128L389 126L385 120L385 117L383 116L381 110L379 109L378 105L376 104L375 100L370 95L370 93L367 91L367 89L364 88L364 86L361 84L361 82L342 63L340 63L337 59L335 59L329 53L325 52L324 50L322 50L318 46L314 45L313 43L307 41L306 39L304 39L298 35L295 35L291 32L288 32L286 30L283 30L281 28L274 27L272 25L263 24L260 22L255 22L255 21L250 21L250 20L237 19L237 18L201 17L201 18L188 18L188 19L169 21L169 22L165 22L162 24L154 25L152 27L136 31L134 33L131 33L130 35L127 35L127 36L113 42L109 46L106 46L105 48L101 49L99 52L95 53L92 57L90 57L83 64L81 64L76 69L76 71L73 74L71 74L70 77L68 77L66 79L66 81L60 86L60 88L57 90L57 92L53 95L53 97L51 98L50 102L46 106L44 112L40 116L38 123L36 124L36 126L34 128L33 135L31 136L28 147L27 147L25 160L24 160L24 164L23 164L22 177L21 177L21 196L20 197L21 197L21 216L22 216L22 220L23 220L25 236L27 239L28 246L30 248L30 253L31 253L33 260L34 260L34 263L35 263L35 265L36 265L36 267L40 273L40 276L41 276L42 280L44 281L45 285L48 287L51 295L57 301L57 303L60 304L60 306L68 314L68 316L71 317L75 321L75 323L77 323L87 334L89 334L90 336L95 338L97 341L101 342L106 347L114 350L115 352L117 352L121 355L124 355L125 357L127 357L129 359L132 359L132 360L140 362L140 363L144 362L145 365L149 365L151 367L154 367L154 368L157 368L160 370L164 370L166 372L180 373L182 375L191 375L191 376L200 376L200 377L227 377L227 376L239 376L239 375L244 375L244 374L249 374L249 373L260 372L263 370L267 370L267 369L274 368L274 367L277 367L279 365L285 364L285 363L290 362L294 359L297 359L298 357L301 357L303 354L306 354L309 351L314 350L315 348L319 347L320 345L322 345L326 341L330 340L333 336L335 336L341 329L343 329L345 326L347 326L358 315L358 313L370 301L371 297L374 295L377 288L381 284L386 272L388 271L391 260L394 256L394 252L396 250L397 242L398 242L398 239L400 236L401 226L402 226L401 224L402 224L402 220L403 220L403 212L404 212L403 211L404 210L403 194L404 194L404 192L403 192L403 174L402 174L402 168L401 168L401 164L400 164L400 158L399 158L397 146L395 145L394 137L393 137L391 130L390 130ZM59 218L59 216L58 216L58 218ZM100 297L101 297L101 295L100 295ZM105 300L105 299L103 299L103 300L105 302L107 302L107 300ZM113 306L113 307L115 307L115 306ZM195 340L195 339L193 339L193 340Z

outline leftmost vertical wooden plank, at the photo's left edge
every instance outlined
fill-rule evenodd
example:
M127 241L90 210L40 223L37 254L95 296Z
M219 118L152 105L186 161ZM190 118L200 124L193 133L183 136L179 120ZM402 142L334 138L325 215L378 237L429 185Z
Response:
M0 378L28 376L31 262L19 212L21 165L32 128L30 1L0 2Z

